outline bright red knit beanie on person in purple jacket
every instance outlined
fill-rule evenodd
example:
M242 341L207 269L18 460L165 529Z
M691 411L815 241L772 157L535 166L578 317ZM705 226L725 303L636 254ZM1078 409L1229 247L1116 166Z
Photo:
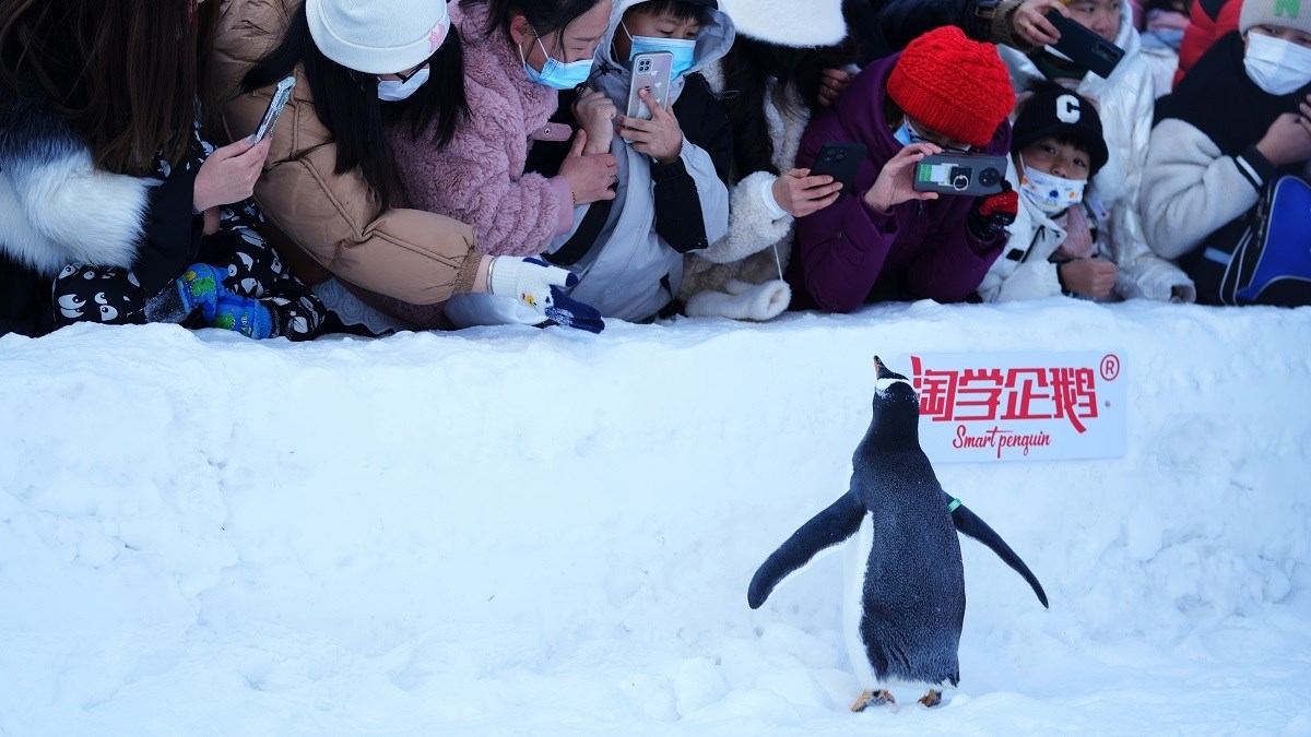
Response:
M965 38L956 26L911 41L888 75L888 94L933 132L986 146L1015 108L1011 75L996 46Z

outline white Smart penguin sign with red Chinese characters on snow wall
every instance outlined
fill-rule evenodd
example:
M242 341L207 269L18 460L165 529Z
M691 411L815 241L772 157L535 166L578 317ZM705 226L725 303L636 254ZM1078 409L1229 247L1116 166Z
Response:
M1120 353L931 353L889 368L919 392L919 445L933 463L1122 458Z

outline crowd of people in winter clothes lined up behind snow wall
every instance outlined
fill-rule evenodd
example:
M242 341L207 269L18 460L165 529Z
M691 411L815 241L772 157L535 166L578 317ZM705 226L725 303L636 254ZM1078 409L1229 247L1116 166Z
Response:
M1311 0L0 0L0 334L1304 306L1308 182Z

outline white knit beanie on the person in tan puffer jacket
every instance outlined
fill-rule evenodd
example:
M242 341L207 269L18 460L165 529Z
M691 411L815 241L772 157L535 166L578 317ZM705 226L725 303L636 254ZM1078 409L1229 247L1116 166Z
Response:
M324 56L368 75L422 64L451 25L444 0L305 0L305 17Z

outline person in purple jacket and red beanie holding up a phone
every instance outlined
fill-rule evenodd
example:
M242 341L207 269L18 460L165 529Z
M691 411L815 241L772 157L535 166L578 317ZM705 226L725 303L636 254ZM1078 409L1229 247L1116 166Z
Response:
M1019 197L914 191L915 163L929 153L1004 156L1015 92L996 47L940 28L877 60L801 138L798 167L829 142L869 153L848 195L797 220L788 269L793 308L851 312L872 302L961 302L1006 245Z

